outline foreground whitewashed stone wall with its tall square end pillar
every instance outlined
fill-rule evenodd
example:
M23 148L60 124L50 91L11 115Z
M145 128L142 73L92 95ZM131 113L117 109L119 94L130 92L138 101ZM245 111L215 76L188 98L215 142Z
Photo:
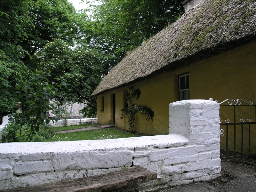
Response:
M0 143L0 189L71 180L142 166L157 179L137 190L220 175L219 104L171 103L170 134L111 140ZM131 189L132 190L132 189Z

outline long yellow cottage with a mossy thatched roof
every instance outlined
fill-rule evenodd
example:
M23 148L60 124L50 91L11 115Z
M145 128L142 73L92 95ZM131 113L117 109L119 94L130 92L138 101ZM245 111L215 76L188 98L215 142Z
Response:
M126 56L101 81L92 93L97 95L100 124L129 130L127 119L120 118L129 86L141 91L136 102L154 111L153 121L140 114L135 120L135 131L149 135L169 133L168 105L178 100L230 98L256 104L255 1L199 0L193 7L196 1L184 2L186 13L179 20ZM243 109L241 114L248 113L255 122L255 108L253 112ZM221 118L230 115L220 109ZM255 153L255 124L251 136Z

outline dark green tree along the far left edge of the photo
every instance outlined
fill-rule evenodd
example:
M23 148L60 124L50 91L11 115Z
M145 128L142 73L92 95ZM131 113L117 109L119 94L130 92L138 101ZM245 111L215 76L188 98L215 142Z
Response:
M28 16L30 3L30 0L0 2L0 123L18 102L13 91L14 78L22 78L28 72L20 61L24 51L19 44L28 36L26 27L32 24Z

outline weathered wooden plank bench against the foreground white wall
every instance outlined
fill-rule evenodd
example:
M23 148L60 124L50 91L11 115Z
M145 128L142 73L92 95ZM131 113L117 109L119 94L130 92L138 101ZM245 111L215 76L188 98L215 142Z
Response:
M84 177L76 180L57 181L42 185L0 190L0 192L100 192L125 186L138 185L156 179L157 174L143 167L135 167L108 174Z

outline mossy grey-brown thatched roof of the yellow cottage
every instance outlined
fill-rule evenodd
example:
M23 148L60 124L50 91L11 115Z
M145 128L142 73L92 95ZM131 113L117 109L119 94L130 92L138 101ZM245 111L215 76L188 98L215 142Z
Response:
M255 0L205 0L126 56L92 95L175 70L256 38Z

